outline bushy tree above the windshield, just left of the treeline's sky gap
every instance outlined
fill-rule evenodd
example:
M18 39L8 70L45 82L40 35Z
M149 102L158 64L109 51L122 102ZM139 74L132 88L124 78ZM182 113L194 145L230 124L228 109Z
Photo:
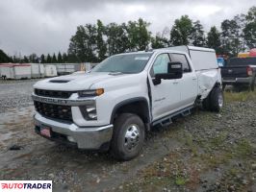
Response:
M148 48L151 33L147 30L150 23L139 18L138 21L129 21L127 33L129 38L129 48L131 51L142 51Z

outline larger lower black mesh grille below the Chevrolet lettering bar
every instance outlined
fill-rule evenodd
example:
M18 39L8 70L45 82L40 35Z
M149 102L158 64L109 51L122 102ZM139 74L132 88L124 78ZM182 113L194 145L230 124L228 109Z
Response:
M34 105L38 113L45 117L72 122L70 106L45 104L37 101L34 101Z

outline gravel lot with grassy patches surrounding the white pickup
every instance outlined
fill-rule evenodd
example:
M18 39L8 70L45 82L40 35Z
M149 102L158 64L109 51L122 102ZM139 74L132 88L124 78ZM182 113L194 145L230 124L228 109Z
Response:
M155 128L141 156L117 162L38 136L34 83L0 84L0 180L53 180L54 191L256 191L255 93L226 93L218 114L195 109Z

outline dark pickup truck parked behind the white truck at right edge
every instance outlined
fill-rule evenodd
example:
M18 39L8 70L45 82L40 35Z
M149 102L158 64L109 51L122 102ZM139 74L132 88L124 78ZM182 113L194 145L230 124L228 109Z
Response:
M227 65L221 67L222 84L232 84L235 87L248 85L254 90L256 83L256 58L232 58Z

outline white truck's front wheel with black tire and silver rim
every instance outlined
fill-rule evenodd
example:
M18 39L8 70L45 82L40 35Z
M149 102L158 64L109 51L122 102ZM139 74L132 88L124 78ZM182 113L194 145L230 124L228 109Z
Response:
M139 134L137 134L137 132L129 131L131 129L132 131L133 129L136 129ZM144 123L138 115L132 113L120 114L115 119L111 142L111 153L115 159L130 160L139 156L144 142L144 130ZM129 132L132 132L132 136L139 135L139 137L136 136L135 138L131 138L127 136ZM131 144L132 142L134 142L134 144ZM128 149L130 147L131 149Z

